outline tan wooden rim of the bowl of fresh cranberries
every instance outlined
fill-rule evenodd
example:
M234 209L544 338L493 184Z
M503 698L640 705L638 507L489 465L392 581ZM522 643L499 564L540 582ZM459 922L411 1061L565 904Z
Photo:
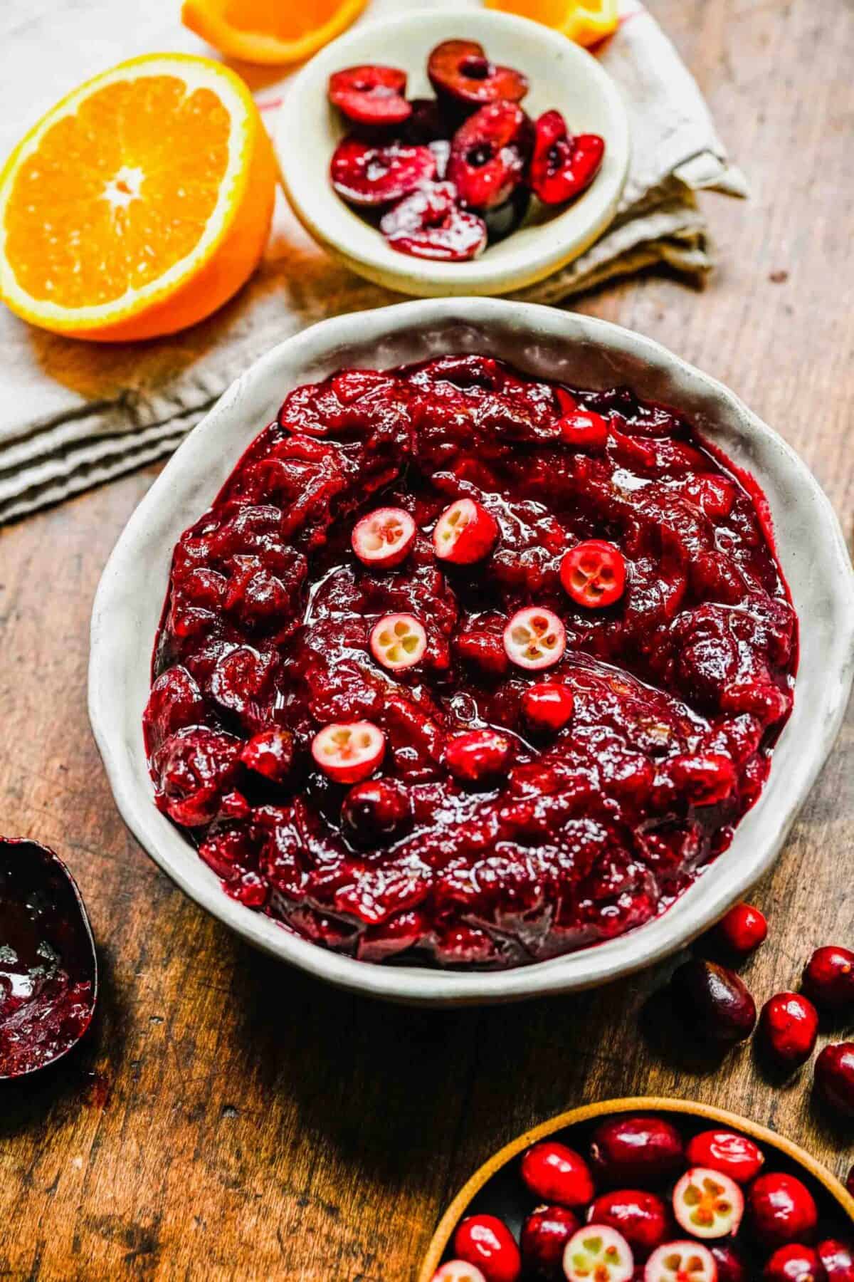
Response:
M700 1100L680 1100L675 1096L659 1095L630 1095L615 1100L598 1100L594 1104L583 1104L566 1113L558 1113L549 1118L548 1122L540 1122L539 1126L522 1132L522 1135L511 1140L510 1144L503 1145L493 1153L465 1182L437 1224L424 1255L417 1282L430 1282L435 1269L439 1267L444 1249L451 1241L455 1227L462 1219L475 1194L479 1194L484 1185L502 1167L506 1167L517 1154L528 1149L529 1145L536 1144L538 1140L544 1140L547 1136L554 1135L557 1131L563 1131L566 1127L579 1126L581 1122L589 1122L593 1118L611 1113L686 1113L694 1118L703 1118L707 1122L743 1131L752 1140L777 1149L790 1160L804 1167L813 1179L817 1179L831 1197L839 1203L841 1209L848 1213L851 1220L854 1220L854 1197L846 1192L836 1176L818 1161L817 1158L813 1158L810 1153L807 1153L799 1144L795 1144L794 1140L789 1140L777 1131L771 1131L761 1122L752 1122L750 1118L741 1117L739 1113L718 1109L716 1105L704 1104Z

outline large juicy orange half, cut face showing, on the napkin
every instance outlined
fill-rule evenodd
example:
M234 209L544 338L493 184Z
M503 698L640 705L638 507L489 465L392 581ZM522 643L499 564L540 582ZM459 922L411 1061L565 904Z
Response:
M58 103L0 173L0 297L78 338L173 333L264 250L275 163L243 81L149 54Z

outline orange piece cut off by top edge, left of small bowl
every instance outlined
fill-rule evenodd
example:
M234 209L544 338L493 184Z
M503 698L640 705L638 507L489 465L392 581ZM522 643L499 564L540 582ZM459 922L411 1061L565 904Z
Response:
M229 58L298 63L359 17L367 0L184 0L186 27Z

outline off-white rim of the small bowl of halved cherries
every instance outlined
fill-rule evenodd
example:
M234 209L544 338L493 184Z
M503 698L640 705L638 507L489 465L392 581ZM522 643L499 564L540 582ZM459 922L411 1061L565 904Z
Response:
M612 223L620 204L631 155L629 117L615 81L586 49L567 40L561 32L519 14L495 9L466 9L460 15L460 22L471 28L469 33L479 36L484 42L489 40L490 31L504 31L516 38L535 42L543 51L553 50L560 54L568 64L574 64L576 78L585 77L592 86L590 91L608 115L608 171L597 179L602 181L599 199L595 203L588 201L586 206L581 201L574 203L556 213L535 229L529 244L516 245L515 254L502 254L498 260L490 259L488 253L467 263L437 263L412 258L387 246L379 232L370 242L366 241L364 250L355 249L346 235L348 219L339 224L338 218L325 209L325 201L316 194L316 188L311 190L309 186L307 171L303 173L302 150L297 153L288 145L294 136L301 136L300 119L305 104L318 97L320 85L325 85L330 72L362 60L359 51L367 38L382 36L384 47L388 49L388 42L399 33L424 28L426 46L430 42L430 28L438 27L439 33L447 35L447 10L424 8L380 17L355 27L315 54L296 76L277 114L273 145L279 176L288 204L306 232L351 271L375 285L420 296L507 294L534 285L579 258ZM351 55L351 50L356 50L356 54ZM325 92L323 100L325 103ZM324 160L324 167L328 159ZM325 190L323 195L325 196ZM339 204L348 210L346 203ZM585 222L576 217L576 212L583 208L588 210ZM561 219L565 219L563 224ZM574 227L568 240L557 235L558 231L568 229L567 223L575 222L579 227Z

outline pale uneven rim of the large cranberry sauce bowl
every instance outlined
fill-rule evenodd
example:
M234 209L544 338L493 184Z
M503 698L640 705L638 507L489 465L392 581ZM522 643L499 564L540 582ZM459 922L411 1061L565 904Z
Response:
M154 805L147 769L143 781L137 782L133 770L134 747L125 735L123 723L124 696L115 697L117 686L122 691L123 681L127 683L128 679L124 676L125 647L122 631L123 613L127 614L123 605L123 585L125 578L133 578L134 568L138 568L138 549L146 546L149 523L150 520L156 523L154 518L161 506L168 508L174 504L174 490L179 488L182 478L186 482L188 477L196 477L206 469L209 460L206 436L216 431L219 424L228 424L243 417L242 401L248 387L256 382L262 383L269 373L280 368L283 362L305 370L318 359L319 353L323 353L326 360L338 359L348 349L364 346L366 341L379 346L383 336L388 338L408 333L416 333L419 342L426 347L424 336L430 333L430 326L457 323L471 329L472 322L479 332L488 332L490 326L498 329L506 322L507 326L512 326L513 337L519 326L522 326L529 336L545 333L554 340L560 337L565 344L586 342L604 346L609 353L626 360L641 358L663 376L671 378L676 376L685 396L689 395L690 387L695 395L703 392L712 396L716 403L723 401L748 436L759 433L775 445L777 458L787 469L787 481L794 483L793 477L795 477L809 496L810 510L814 510L822 528L822 550L826 555L823 568L831 576L839 617L839 626L834 633L834 663L828 665L822 686L825 706L814 710L821 724L821 745L812 755L799 755L798 786L786 792L785 806L780 808L780 813L768 815L769 836L759 842L761 858L750 855L739 862L731 860L730 877L725 886L716 887L714 895L708 892L708 887L702 896L693 894L703 881L700 878L667 912L616 940L524 967L489 972L359 962L292 935L270 918L228 897L183 835ZM388 364L388 360L385 363ZM236 451L234 464L237 459ZM762 476L759 481L763 481ZM168 565L172 544L166 549L157 549L157 554L165 558ZM133 627L133 619L124 618L124 627ZM154 482L131 515L108 560L92 610L88 705L95 740L124 822L155 863L197 904L264 951L341 987L408 1004L465 1005L522 1000L595 987L662 960L707 929L743 897L776 860L795 814L836 737L845 713L853 672L854 572L834 509L791 446L758 419L739 397L654 340L608 320L538 304L483 297L446 299L401 303L321 320L273 347L232 383ZM831 701L831 692L836 695L835 701ZM138 709L133 729L137 750L141 749L142 741L141 717L142 708ZM780 742L790 727L791 722L784 729ZM794 768L794 764L791 763L790 768ZM768 787L769 783L766 785L757 806L745 815L743 824L761 810ZM736 829L736 841L740 831L741 824ZM192 859L187 858L188 854ZM727 855L731 855L731 851L722 858ZM675 919L679 923L676 929L670 927Z

